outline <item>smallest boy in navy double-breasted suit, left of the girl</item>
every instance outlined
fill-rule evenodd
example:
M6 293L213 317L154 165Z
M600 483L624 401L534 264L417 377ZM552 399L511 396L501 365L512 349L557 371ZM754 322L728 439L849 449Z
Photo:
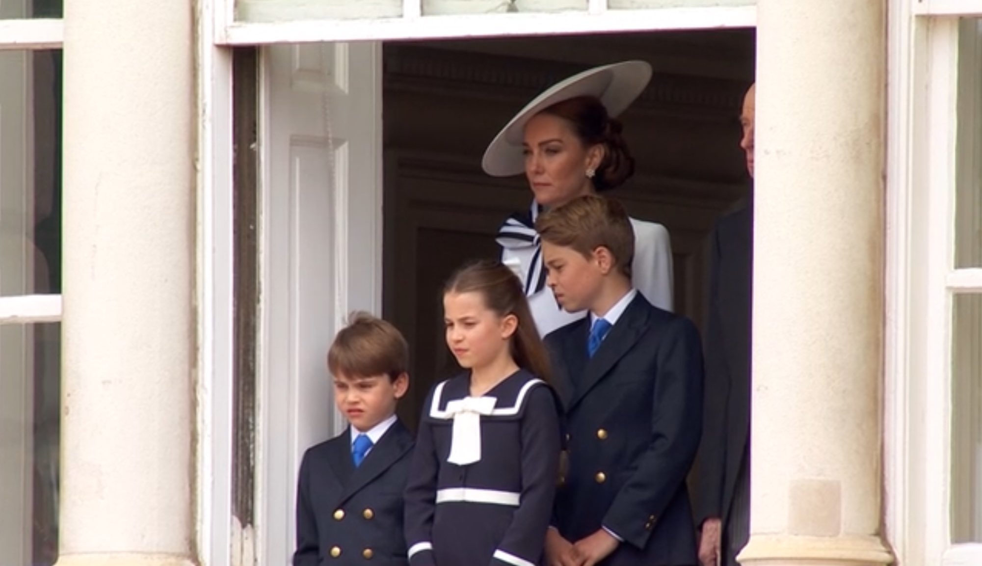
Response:
M396 417L408 364L399 330L367 313L335 337L327 365L351 426L303 454L294 566L408 564L403 490L413 437Z

